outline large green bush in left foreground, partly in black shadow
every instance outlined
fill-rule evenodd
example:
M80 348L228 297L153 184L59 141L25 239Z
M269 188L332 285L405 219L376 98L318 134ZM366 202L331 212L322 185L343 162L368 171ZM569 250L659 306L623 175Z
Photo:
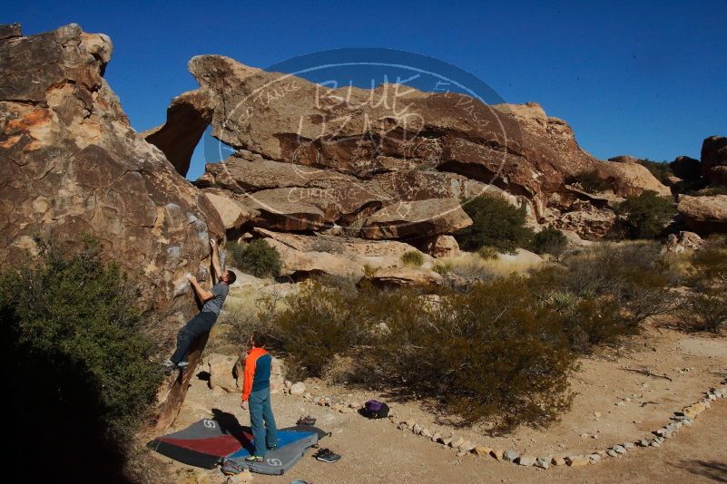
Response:
M114 472L162 379L138 293L91 237L76 254L37 243L36 261L0 278L9 411L29 416L17 422L14 451L44 455L63 475L80 452L89 471L123 479Z

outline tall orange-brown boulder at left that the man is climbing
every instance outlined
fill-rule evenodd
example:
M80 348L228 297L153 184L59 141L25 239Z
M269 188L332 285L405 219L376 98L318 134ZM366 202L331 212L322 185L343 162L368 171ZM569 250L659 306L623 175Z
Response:
M103 254L138 275L162 347L197 310L185 274L209 266L223 237L216 210L162 152L133 131L103 79L112 44L76 24L21 36L0 28L0 259L22 266L34 234L68 247L89 233ZM201 352L192 353L192 368ZM193 372L160 396L171 423Z

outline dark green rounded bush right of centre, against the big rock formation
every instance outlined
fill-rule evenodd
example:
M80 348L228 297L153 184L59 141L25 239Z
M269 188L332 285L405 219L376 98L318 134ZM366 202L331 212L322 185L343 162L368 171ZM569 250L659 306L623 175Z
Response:
M515 208L503 198L476 197L463 204L472 225L455 234L459 247L477 250L494 247L500 252L512 253L517 247L525 247L532 237L532 229L526 227L526 208Z

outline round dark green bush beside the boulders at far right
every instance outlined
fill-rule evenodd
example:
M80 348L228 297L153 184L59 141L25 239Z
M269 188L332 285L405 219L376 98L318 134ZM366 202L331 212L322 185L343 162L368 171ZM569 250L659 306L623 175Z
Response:
M653 190L644 190L638 196L626 198L615 212L625 216L625 226L632 238L655 238L672 221L676 207L671 198L660 197Z

